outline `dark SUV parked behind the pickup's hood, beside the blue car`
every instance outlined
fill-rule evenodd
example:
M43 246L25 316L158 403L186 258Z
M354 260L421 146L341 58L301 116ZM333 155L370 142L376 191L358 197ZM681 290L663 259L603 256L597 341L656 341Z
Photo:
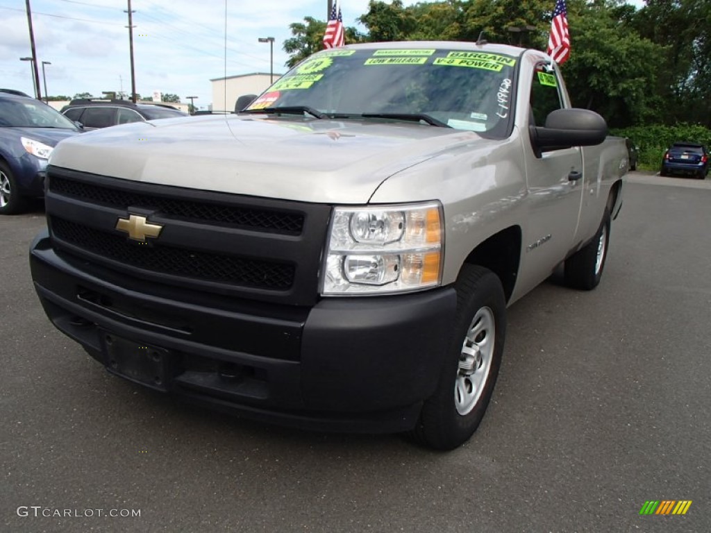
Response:
M62 108L70 120L79 122L84 129L105 128L141 120L188 117L187 113L166 104L134 104L129 100L76 99Z

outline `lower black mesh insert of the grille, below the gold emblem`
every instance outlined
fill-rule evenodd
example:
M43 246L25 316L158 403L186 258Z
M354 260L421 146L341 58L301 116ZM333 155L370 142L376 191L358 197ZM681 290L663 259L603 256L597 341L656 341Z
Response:
M205 281L284 291L294 283L294 266L174 247L139 246L121 235L50 217L58 239L100 257L139 269Z

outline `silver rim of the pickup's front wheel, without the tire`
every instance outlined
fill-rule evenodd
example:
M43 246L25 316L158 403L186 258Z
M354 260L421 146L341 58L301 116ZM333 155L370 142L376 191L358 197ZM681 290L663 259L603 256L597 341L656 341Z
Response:
M476 312L461 345L459 368L454 383L454 405L462 416L469 414L486 386L493 359L496 321L493 311L482 307Z

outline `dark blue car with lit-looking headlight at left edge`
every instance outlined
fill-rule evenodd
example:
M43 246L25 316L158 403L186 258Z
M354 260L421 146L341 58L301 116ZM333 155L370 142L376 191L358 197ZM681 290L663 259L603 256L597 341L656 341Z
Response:
M44 194L49 154L80 131L39 100L0 92L0 215L21 212L28 198Z

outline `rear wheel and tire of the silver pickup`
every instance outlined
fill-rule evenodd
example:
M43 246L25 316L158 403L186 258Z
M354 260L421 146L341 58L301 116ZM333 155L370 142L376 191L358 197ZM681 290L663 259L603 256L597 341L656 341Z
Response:
M565 259L565 281L574 289L591 291L600 283L610 244L610 212L605 208L602 222L588 244Z

